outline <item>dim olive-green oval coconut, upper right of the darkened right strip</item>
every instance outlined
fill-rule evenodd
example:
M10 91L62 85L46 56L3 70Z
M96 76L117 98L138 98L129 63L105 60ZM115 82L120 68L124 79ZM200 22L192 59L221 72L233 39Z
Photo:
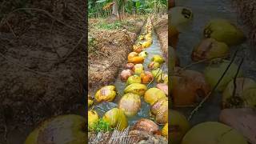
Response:
M214 38L218 42L225 42L229 46L242 43L245 36L242 30L226 19L213 19L203 30L205 38Z

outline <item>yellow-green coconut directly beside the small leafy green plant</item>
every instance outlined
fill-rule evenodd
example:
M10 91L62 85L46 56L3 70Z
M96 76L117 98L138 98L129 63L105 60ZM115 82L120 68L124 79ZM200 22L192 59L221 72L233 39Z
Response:
M126 115L118 108L107 111L102 120L108 122L112 128L117 127L117 130L124 130L128 126Z

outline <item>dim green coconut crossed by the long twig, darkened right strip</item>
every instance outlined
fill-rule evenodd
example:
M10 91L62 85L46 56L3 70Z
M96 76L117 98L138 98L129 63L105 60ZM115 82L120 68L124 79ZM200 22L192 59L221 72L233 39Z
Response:
M222 60L222 62L212 63L210 66L207 66L204 74L206 77L206 82L208 82L211 88L217 84L218 80L222 77L222 74L226 70L227 66L230 65L230 61ZM222 78L221 82L217 86L217 91L223 91L228 83L235 77L237 73L238 66L234 63L230 65L229 70L226 71L226 74ZM242 70L238 72L238 78L242 77Z

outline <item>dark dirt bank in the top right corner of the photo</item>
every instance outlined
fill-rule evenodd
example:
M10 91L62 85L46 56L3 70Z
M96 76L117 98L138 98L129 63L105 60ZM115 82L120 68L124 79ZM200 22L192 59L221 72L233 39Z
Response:
M256 1L254 0L234 0L238 13L243 22L249 28L249 38L253 46L256 45Z

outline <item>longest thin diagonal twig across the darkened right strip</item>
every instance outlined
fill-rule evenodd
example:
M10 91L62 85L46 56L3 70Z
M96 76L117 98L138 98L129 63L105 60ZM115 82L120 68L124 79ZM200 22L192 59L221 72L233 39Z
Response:
M191 120L191 118L193 117L193 115L202 107L202 104L204 104L204 103L206 102L206 100L207 100L208 98L210 98L210 95L213 94L214 90L217 89L218 84L222 81L222 78L224 78L226 72L230 69L231 64L234 62L234 59L235 59L237 53L238 53L238 50L235 51L234 56L233 56L232 60L230 61L230 64L226 67L226 70L223 72L221 78L218 79L218 82L215 84L213 90L211 90L210 93L207 94L206 97L202 99L202 101L198 104L198 106L196 106L196 107L194 108L194 110L192 110L192 112L190 113L190 116L189 116L189 118L188 118L189 121Z

